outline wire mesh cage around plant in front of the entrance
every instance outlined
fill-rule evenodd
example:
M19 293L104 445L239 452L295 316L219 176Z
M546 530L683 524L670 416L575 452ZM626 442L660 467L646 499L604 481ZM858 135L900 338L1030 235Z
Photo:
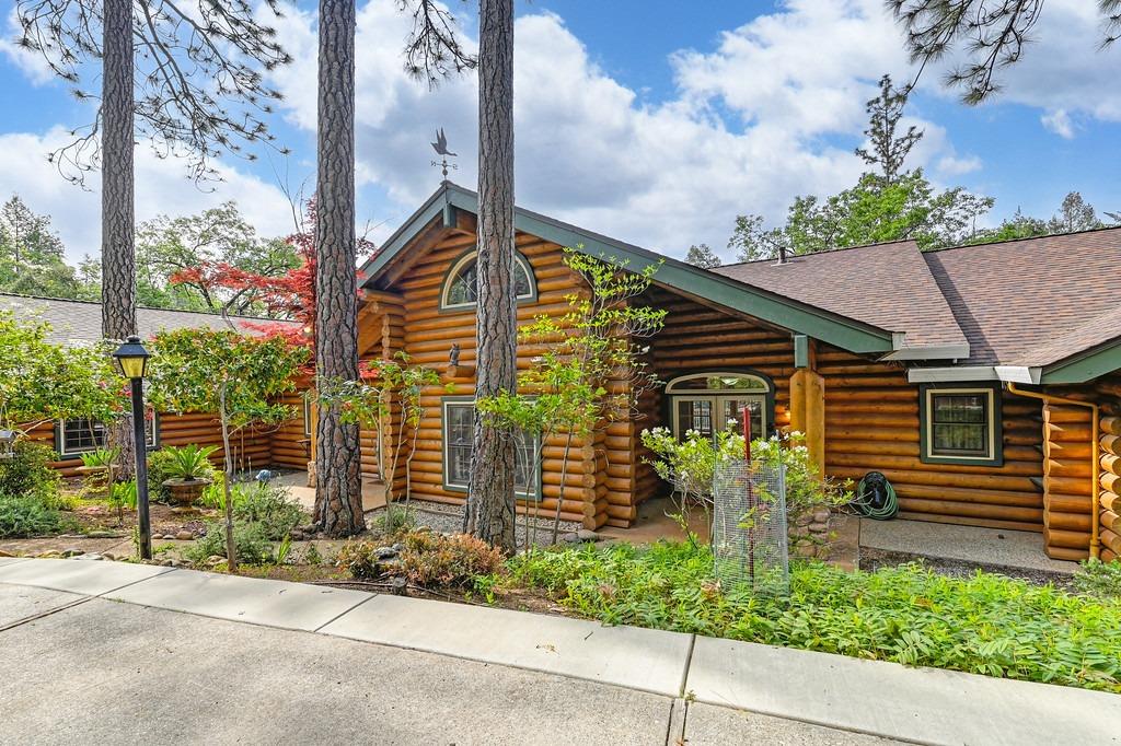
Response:
M715 469L712 552L726 590L789 593L785 469L742 458L725 459Z

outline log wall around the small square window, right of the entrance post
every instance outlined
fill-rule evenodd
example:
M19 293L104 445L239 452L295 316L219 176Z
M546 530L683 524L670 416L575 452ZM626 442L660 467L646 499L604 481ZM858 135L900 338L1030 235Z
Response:
M906 371L821 346L825 377L825 470L859 481L882 472L899 496L900 517L1041 531L1040 407L1004 393L1004 465L924 464L918 386Z

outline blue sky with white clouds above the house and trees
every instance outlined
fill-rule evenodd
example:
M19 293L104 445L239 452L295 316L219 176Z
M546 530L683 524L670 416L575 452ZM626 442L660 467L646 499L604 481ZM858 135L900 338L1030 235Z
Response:
M1048 217L1071 190L1121 211L1121 45L1099 48L1095 4L1048 0L1022 62L981 106L926 71L907 110L926 134L908 165L994 197L993 224L1017 209ZM474 4L450 7L474 45ZM274 25L294 63L271 75L285 100L269 124L290 155L225 157L222 180L198 188L183 162L141 144L138 220L233 199L262 234L291 232L285 189L315 180L316 25L314 4L282 8ZM50 215L71 259L95 255L96 176L82 189L47 162L91 119L89 104L11 44L15 24L12 10L0 41L0 197L18 193ZM476 179L475 81L429 91L410 80L407 31L396 0L359 0L358 223L374 242L437 188L437 128L460 153L452 180ZM864 102L882 74L915 74L882 0L520 0L515 45L518 204L676 257L707 243L731 259L738 214L780 224L796 195L851 186L864 167L853 153Z

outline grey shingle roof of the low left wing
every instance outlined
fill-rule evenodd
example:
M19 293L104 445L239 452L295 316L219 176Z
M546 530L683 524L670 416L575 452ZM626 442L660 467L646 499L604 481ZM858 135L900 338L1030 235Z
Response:
M0 293L0 310L10 310L17 316L35 315L53 327L49 339L56 344L83 344L101 339L101 304L89 300L63 300ZM274 321L249 316L231 316L230 320L239 329L256 334L245 323L296 324L296 321ZM137 327L141 338L161 330L184 328L229 328L216 314L169 310L166 308L137 308Z

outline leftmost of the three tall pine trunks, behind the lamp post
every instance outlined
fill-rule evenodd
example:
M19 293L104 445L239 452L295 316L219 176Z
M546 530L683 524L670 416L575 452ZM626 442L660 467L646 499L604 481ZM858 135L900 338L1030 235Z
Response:
M105 0L101 92L101 334L121 339L137 333L132 174L132 0ZM120 448L119 478L136 473L132 418L109 428ZM141 444L142 447L142 444Z

